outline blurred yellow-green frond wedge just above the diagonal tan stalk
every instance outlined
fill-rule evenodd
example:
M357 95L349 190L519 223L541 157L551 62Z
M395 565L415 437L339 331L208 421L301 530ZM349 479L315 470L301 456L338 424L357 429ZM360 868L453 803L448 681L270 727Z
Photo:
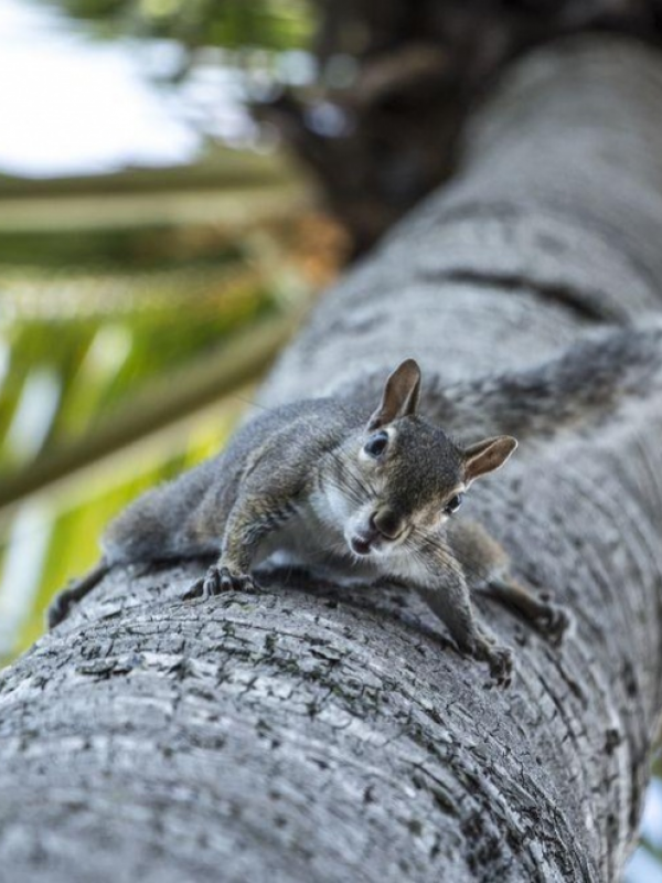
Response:
M168 287L173 294L178 286L182 292L188 289L190 298L184 304L181 297L172 297L170 305L159 299L159 286L164 284L161 274L154 277L150 285L150 274L145 273L83 278L73 273L40 286L39 277L28 276L30 298L25 300L33 310L21 302L20 285L14 304L4 294L6 305L14 309L3 336L9 371L0 400L0 437L4 439L0 470L66 443L85 432L96 414L117 407L128 390L134 395L153 376L177 369L193 353L216 348L245 322L275 309L273 291L257 273L233 279L214 265L180 270L167 280ZM65 295L60 315L52 296L58 284L57 294ZM100 296L95 288L102 289ZM196 298L201 288L204 297ZM94 315L90 306L104 296L108 300ZM82 304L79 315L72 310L76 300ZM42 304L45 316L40 316ZM173 321L179 311L185 311L184 321ZM19 429L13 436L12 423L35 379L47 385L54 404L56 400L52 419L36 437L34 429L29 439Z

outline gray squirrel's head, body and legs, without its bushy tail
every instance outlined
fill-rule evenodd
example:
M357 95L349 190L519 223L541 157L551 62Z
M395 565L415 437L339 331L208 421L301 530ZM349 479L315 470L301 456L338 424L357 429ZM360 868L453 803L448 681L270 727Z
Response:
M414 586L459 650L506 685L512 651L480 626L471 591L488 587L554 639L568 618L511 579L505 552L480 525L456 519L470 486L502 467L517 442L498 435L456 444L419 416L420 379L406 359L372 414L327 397L258 415L216 458L120 513L104 534L102 562L56 597L49 625L115 565L220 555L185 594L207 598L259 591L253 570L286 551L306 565Z

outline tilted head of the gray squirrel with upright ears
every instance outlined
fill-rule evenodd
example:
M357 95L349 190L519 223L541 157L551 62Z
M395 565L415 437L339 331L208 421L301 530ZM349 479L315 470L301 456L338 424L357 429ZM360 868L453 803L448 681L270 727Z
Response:
M419 398L420 369L406 359L345 449L343 531L359 556L413 550L439 536L470 485L503 466L517 447L505 435L461 447L418 416Z

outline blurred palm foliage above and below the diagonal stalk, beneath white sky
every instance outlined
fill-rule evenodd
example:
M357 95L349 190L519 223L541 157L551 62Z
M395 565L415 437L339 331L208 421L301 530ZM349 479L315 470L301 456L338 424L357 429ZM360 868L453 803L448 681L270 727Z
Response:
M256 347L246 360L255 358L257 371L264 343L252 329L299 311L342 251L340 233L273 157L243 164L241 155L218 151L172 175L127 171L72 188L8 181L0 183L0 661L39 636L53 593L97 557L107 521L141 490L216 451L250 397L238 390L201 405L200 390L188 397L186 379L213 382L237 336ZM146 428L141 411L160 400L168 419ZM127 428L124 442L118 426ZM86 445L95 449L108 430L90 465ZM10 487L49 475L57 458L66 469L56 481L10 493L1 508Z

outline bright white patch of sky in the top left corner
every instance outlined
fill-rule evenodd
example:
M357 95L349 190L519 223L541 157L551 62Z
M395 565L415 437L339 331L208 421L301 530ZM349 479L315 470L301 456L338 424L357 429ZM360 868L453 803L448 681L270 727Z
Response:
M49 177L184 162L199 136L141 77L136 50L0 0L0 171Z

